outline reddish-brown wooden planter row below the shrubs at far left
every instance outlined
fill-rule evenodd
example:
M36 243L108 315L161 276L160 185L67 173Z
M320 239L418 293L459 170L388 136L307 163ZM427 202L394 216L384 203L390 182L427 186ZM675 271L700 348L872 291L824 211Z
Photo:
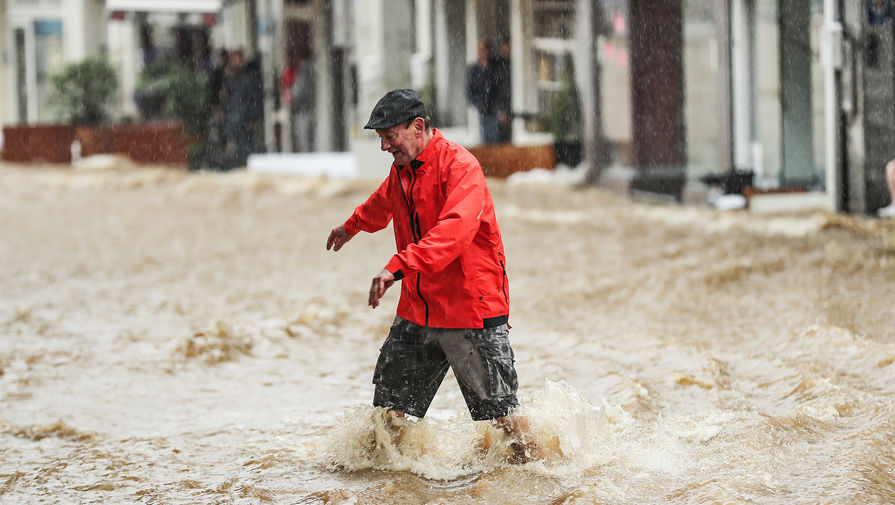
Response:
M122 154L138 163L185 165L192 141L179 121L126 125L23 125L3 128L3 159L28 163L70 163L71 144L81 155Z

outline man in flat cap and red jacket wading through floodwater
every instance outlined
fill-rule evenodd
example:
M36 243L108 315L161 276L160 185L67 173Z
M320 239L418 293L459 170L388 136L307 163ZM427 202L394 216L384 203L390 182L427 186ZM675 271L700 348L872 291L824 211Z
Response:
M373 404L394 421L423 417L448 367L473 420L495 420L513 439L517 461L537 456L519 405L509 342L509 285L503 241L482 167L432 128L416 91L383 96L365 129L376 130L394 162L388 178L326 249L338 251L359 231L393 222L398 253L373 277L369 304L401 280L398 314L382 346Z

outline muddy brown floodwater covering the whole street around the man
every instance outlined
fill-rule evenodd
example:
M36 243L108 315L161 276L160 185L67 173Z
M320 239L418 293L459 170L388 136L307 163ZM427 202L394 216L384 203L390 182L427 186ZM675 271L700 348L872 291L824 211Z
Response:
M377 183L0 166L0 503L895 503L895 221L489 181L519 465L369 406Z

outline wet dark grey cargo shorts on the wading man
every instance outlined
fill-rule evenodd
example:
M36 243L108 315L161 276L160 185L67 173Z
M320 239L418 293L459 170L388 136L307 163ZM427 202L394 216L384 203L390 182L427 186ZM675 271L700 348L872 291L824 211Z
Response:
M423 417L451 367L474 420L503 417L519 404L513 358L506 324L454 330L395 317L373 373L373 405Z

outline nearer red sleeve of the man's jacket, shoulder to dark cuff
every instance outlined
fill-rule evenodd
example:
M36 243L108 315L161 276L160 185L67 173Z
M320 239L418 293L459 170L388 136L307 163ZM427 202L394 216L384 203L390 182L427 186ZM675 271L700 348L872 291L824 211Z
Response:
M481 224L485 206L485 176L472 161L456 162L448 169L444 207L438 221L416 244L394 255L386 265L403 275L420 271L435 273L465 251Z

